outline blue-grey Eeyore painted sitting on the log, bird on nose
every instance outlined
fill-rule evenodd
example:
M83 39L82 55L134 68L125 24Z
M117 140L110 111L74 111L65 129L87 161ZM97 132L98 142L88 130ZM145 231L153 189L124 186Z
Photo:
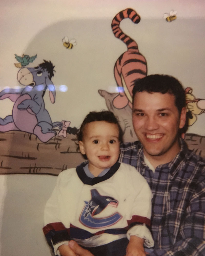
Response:
M0 100L9 98L15 102L12 115L0 118L0 131L29 132L35 134L42 142L47 142L56 135L53 127L62 124L52 123L43 100L46 89L49 89L50 100L55 102L56 92L51 81L53 76L54 66L52 62L45 60L35 68L22 68L18 71L17 80L26 87L9 88L0 92Z

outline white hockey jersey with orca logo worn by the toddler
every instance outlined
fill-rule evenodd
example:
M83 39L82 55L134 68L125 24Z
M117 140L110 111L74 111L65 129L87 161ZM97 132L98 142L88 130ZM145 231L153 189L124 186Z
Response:
M144 245L152 247L152 194L144 177L134 167L117 162L104 176L90 178L84 172L85 164L59 174L45 207L43 231L55 255L59 245L71 239L91 252L99 246L100 251L106 245L110 248L112 243L115 246L111 247L120 248L130 235L145 239Z

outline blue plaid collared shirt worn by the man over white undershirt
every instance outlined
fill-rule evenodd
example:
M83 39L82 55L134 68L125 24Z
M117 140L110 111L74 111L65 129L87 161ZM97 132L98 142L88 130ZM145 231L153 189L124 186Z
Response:
M205 255L205 164L181 139L181 150L152 172L139 141L121 145L119 162L130 164L152 190L151 229L155 247L150 256ZM140 206L139 206L140 207Z

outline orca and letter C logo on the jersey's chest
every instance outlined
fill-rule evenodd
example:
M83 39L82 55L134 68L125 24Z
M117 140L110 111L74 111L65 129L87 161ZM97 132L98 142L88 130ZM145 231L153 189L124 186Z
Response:
M108 205L117 207L118 201L110 196L101 196L97 189L91 189L90 192L91 199L89 202L84 201L85 207L79 219L83 225L92 229L103 228L115 224L122 218L118 212L104 218L95 218L94 216L102 212Z

